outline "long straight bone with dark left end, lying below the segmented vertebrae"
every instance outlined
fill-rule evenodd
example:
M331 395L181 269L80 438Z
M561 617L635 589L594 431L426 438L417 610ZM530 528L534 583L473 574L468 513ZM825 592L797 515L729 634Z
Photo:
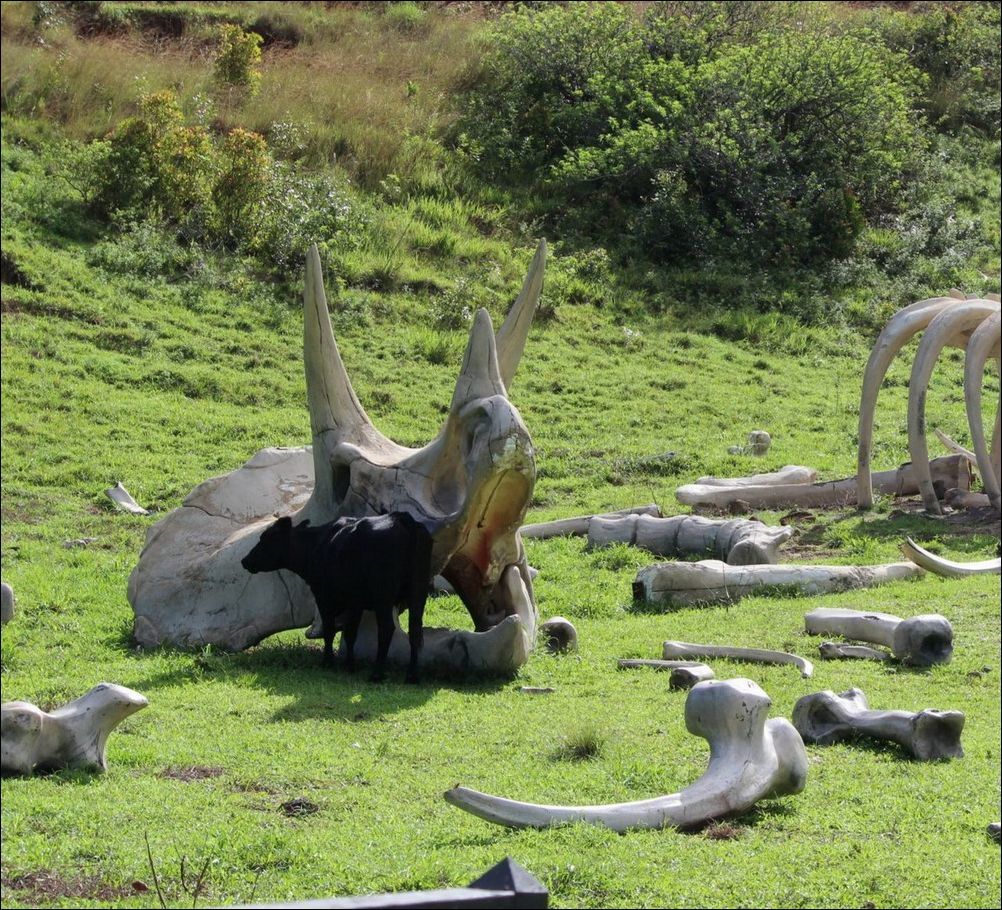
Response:
M912 562L889 565L727 565L717 559L658 562L636 573L633 597L668 606L732 603L763 589L826 594L921 575Z

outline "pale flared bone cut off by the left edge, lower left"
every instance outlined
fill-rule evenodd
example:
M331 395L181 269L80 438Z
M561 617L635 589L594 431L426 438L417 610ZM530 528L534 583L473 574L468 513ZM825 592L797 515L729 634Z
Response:
M106 771L108 734L148 704L139 693L112 682L101 682L51 712L28 702L8 702L0 708L3 773Z

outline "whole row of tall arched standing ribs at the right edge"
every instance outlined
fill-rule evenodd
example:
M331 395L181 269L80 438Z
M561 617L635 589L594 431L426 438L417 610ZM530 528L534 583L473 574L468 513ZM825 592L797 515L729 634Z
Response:
M982 482L992 505L1000 509L1000 423L999 408L995 411L995 433L992 450L985 442L981 417L981 390L985 365L989 357L999 357L1000 307L996 295L983 299L965 299L961 294L920 301L900 310L884 327L870 353L863 375L860 399L859 450L857 455L856 502L861 508L871 508L874 481L870 460L873 452L874 415L877 396L891 362L898 352L920 332L924 332L912 366L908 387L908 441L909 453L915 470L919 492L926 509L942 513L942 493L936 488L935 478L929 471L929 452L926 443L926 395L929 379L945 347L966 349L964 366L964 401L967 409L971 439L977 457Z

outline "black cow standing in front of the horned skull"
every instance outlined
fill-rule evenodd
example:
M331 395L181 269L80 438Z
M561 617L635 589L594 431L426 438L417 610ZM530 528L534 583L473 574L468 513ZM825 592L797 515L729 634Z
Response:
M407 680L418 680L422 619L431 574L432 536L406 512L373 518L339 518L311 527L293 527L288 516L266 528L240 564L248 572L289 569L313 591L324 622L324 665L334 663L334 636L344 631L345 657L355 669L355 638L362 612L376 613L379 649L373 680L386 678L386 655L393 640L393 609L410 611L411 663Z

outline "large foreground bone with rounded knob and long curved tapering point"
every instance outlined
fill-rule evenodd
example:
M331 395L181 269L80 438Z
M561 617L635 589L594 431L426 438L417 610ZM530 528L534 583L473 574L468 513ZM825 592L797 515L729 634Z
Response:
M691 828L739 815L759 800L800 793L808 757L793 725L768 719L772 701L750 679L711 679L689 691L685 729L709 743L709 767L680 793L607 806L539 806L488 796L465 787L445 794L453 806L512 828L568 822L631 828Z

